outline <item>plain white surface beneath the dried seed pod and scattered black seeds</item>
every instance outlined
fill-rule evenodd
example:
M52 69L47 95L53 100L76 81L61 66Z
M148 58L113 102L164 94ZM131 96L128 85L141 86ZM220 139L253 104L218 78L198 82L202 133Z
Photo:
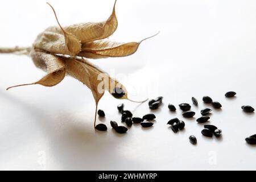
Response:
M114 1L50 1L61 24L108 18ZM119 27L111 37L122 42L143 42L129 57L92 60L129 89L131 97L164 96L150 129L132 126L125 135L115 133L110 119L120 122L116 106L134 115L150 113L147 103L115 100L109 94L99 107L109 130L93 129L94 101L90 90L67 77L59 85L5 89L38 80L44 75L26 56L0 55L0 169L256 169L255 146L245 138L256 133L256 1L121 1ZM56 25L45 1L5 1L0 6L1 46L30 46L39 32ZM234 90L237 97L227 99ZM184 131L174 134L166 125L174 117L168 103L191 103L196 117L205 107L201 97L220 101L210 124L223 130L221 139L206 138L203 125L184 119ZM195 135L197 146L189 143Z

